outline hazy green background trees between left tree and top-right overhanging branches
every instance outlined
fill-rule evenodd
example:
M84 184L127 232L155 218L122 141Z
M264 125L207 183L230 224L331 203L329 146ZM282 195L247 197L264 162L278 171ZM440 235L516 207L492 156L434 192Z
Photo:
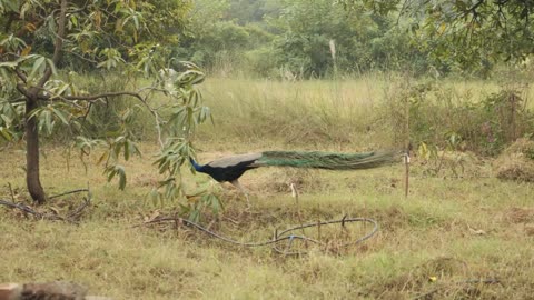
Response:
M332 76L330 43L342 72L408 68L424 60L395 18L349 12L328 0L208 2L196 1L191 36L179 51L208 69L226 61L260 76Z

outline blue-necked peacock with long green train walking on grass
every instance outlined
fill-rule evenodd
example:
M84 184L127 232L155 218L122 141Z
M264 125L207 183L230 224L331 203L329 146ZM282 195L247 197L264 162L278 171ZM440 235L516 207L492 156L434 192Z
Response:
M230 182L248 200L239 178L248 170L259 167L294 167L327 170L359 170L380 167L395 161L399 151L373 151L360 153L335 153L320 151L264 151L237 154L198 164L190 162L197 172L209 174L218 182Z

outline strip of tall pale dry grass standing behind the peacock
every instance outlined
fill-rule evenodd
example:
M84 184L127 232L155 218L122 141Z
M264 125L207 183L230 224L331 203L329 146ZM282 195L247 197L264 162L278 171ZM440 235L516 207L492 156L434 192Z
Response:
M425 86L428 90L419 91ZM234 141L233 150L247 151L269 147L266 137L298 149L398 147L407 139L406 101L413 141L439 143L447 132L467 132L463 128L471 130L465 138L473 138L482 126L475 122L485 118L475 116L483 113L481 103L508 87L497 81L425 81L374 73L309 81L209 78L201 89L215 126L200 130L200 141L209 140L214 147L217 141ZM534 89L517 90L532 110Z

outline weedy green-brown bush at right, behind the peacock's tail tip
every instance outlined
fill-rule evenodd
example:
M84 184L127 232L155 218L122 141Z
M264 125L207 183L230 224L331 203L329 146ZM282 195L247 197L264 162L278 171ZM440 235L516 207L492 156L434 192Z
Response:
M503 89L482 100L469 91L457 94L453 89L434 83L421 83L402 89L386 112L397 144L406 140L406 118L409 119L409 140L454 150L471 150L496 156L517 138L532 134L534 114L525 100L513 89ZM409 109L406 109L409 106Z

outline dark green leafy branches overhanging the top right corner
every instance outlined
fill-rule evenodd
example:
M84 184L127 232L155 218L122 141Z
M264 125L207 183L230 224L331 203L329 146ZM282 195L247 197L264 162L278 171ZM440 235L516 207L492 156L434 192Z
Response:
M390 12L411 20L414 39L436 64L487 73L500 60L533 53L534 2L523 0L338 0L345 8Z

